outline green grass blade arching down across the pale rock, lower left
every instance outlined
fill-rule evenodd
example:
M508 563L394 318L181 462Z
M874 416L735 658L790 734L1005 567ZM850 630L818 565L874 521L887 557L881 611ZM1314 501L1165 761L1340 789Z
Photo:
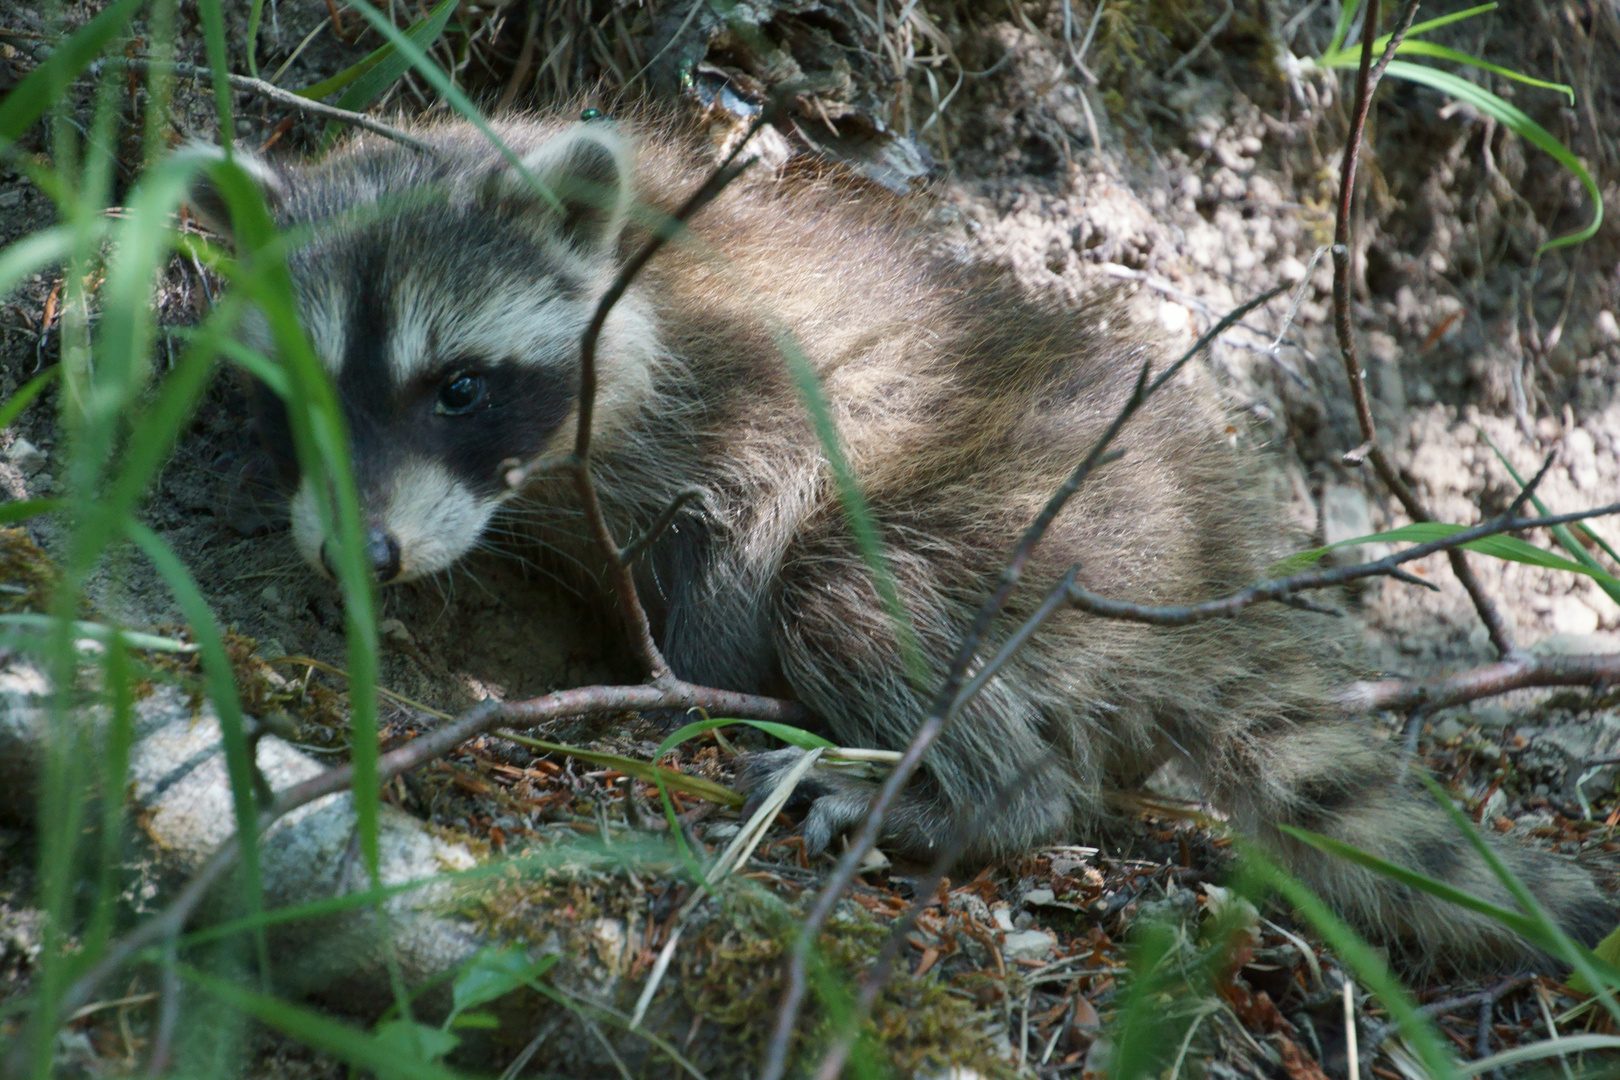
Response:
M191 578L180 557L146 525L130 518L125 531L141 554L147 557L157 573L168 585L175 602L191 627L191 638L198 643L202 659L202 678L207 683L209 701L219 716L220 743L225 748L225 772L230 776L232 810L237 814L237 844L241 848L241 900L249 916L264 910L264 878L259 871L259 808L254 800L258 771L253 764L253 751L248 748L248 733L243 729L241 699L237 696L237 675L225 654L225 638L214 623L214 612L209 610L202 591ZM259 976L269 984L271 952L262 934L254 941L259 957Z

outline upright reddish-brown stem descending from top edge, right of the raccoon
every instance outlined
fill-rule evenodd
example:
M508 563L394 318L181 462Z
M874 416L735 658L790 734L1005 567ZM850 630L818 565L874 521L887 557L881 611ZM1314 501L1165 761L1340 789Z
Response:
M1356 73L1356 104L1351 110L1349 134L1345 138L1338 207L1333 220L1333 332L1338 338L1340 355L1345 358L1345 377L1349 382L1349 393L1356 403L1356 423L1361 426L1362 439L1366 439L1353 453L1358 458L1364 453L1372 461L1379 479L1395 494L1413 521L1432 521L1434 518L1424 508L1422 502L1406 486L1406 481L1401 479L1379 445L1377 426L1372 421L1372 405L1367 400L1367 387L1361 377L1361 359L1356 355L1356 342L1349 327L1349 217L1356 193L1356 162L1361 157L1361 141L1367 128L1367 113L1372 107L1372 91L1377 87L1379 76L1383 74L1383 68L1388 65L1390 57L1395 55L1416 15L1418 3L1406 0L1396 19L1395 31L1390 34L1383 57L1374 70L1372 39L1379 31L1379 0L1367 0L1367 15L1361 28L1361 65ZM1468 557L1461 551L1450 551L1447 552L1447 559L1452 562L1452 573L1463 583L1468 597L1474 602L1474 610L1479 612L1481 622L1486 623L1486 631L1490 635L1490 643L1497 648L1497 653L1502 656L1515 653L1518 646L1508 633L1507 622L1503 622L1502 612L1497 610L1490 596L1486 594L1486 588L1479 583L1479 578L1474 576L1473 568L1468 565Z

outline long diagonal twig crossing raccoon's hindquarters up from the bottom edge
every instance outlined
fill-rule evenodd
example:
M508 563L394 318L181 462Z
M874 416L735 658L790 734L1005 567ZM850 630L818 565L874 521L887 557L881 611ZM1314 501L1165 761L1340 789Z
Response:
M787 989L782 994L781 1006L778 1006L776 1028L771 1031L770 1056L766 1057L765 1069L760 1074L761 1080L781 1080L787 1070L787 1048L799 1022L799 1012L804 1009L805 991L808 989L810 950L815 947L816 934L821 933L821 926L826 925L828 916L833 913L833 908L836 907L838 899L844 894L844 889L847 889L855 879L867 853L876 847L878 837L883 834L883 819L888 814L889 806L894 805L901 790L910 780L912 774L917 772L917 766L922 764L923 755L928 753L930 746L933 746L940 732L944 729L946 721L956 716L962 706L970 701L970 696L962 693L962 682L967 677L967 669L978 656L978 646L983 641L990 623L1006 606L1008 597L1013 594L1013 589L1017 586L1019 578L1024 573L1024 565L1035 552L1035 547L1047 534L1047 529L1051 528L1058 513L1069 502L1074 492L1081 489L1081 484L1085 483L1092 470L1115 460L1115 457L1108 453L1108 444L1119 434L1119 429L1124 427L1126 421L1129 421L1137 410L1142 408L1142 403L1158 392L1166 381L1174 377L1174 374L1181 371L1189 359L1223 334L1226 327L1238 322L1246 314L1286 288L1286 285L1280 285L1228 313L1220 322L1212 325L1197 342L1194 342L1192 348L1183 353L1176 363L1170 364L1170 368L1166 368L1165 372L1152 382L1149 382L1152 364L1144 364L1140 374L1137 374L1131 397L1126 400L1124 406L1121 406L1119 415L1115 416L1113 423L1108 424L1108 429L1103 431L1095 445L1092 445L1090 452L1074 468L1074 473L1071 473L1063 486L1053 492L1042 512L1034 521L1030 521L1029 528L1024 529L1024 536L1019 538L1006 567L1001 570L995 591L980 606L974 622L962 635L962 643L956 651L956 657L951 661L951 669L944 677L944 683L940 687L940 693L933 699L933 706L928 709L928 716L925 716L922 724L917 725L910 743L906 746L906 753L901 755L894 771L889 772L883 787L878 790L878 797L873 800L872 810L867 811L860 826L860 834L849 844L842 858L839 858L838 866L833 870L826 884L821 887L821 892L816 895L816 902L810 908L804 928L799 931L799 939L794 942L792 960L787 967Z

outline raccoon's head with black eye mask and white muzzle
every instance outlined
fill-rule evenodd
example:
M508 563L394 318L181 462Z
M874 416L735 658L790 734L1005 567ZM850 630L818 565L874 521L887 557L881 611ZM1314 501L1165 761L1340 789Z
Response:
M512 463L572 444L580 340L619 269L627 139L601 123L497 131L522 168L468 126L420 133L426 152L363 139L311 167L248 160L277 223L301 236L288 253L298 314L348 426L384 583L452 565L515 494ZM193 202L228 233L215 193ZM274 355L261 313L245 338ZM603 439L646 398L656 353L632 293L598 345ZM261 397L293 538L330 573L335 515L300 476L287 406Z

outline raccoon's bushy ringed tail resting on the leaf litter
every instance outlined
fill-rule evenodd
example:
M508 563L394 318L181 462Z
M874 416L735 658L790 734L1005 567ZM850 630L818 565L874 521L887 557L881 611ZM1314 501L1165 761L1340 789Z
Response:
M1281 832L1296 826L1442 881L1508 910L1511 894L1430 792L1401 777L1387 742L1366 721L1324 719L1249 730L1220 769L1218 798L1236 824L1358 929L1398 952L1406 967L1524 967L1547 957L1502 923L1364 870ZM1573 861L1523 844L1494 844L1547 913L1592 946L1617 912Z

